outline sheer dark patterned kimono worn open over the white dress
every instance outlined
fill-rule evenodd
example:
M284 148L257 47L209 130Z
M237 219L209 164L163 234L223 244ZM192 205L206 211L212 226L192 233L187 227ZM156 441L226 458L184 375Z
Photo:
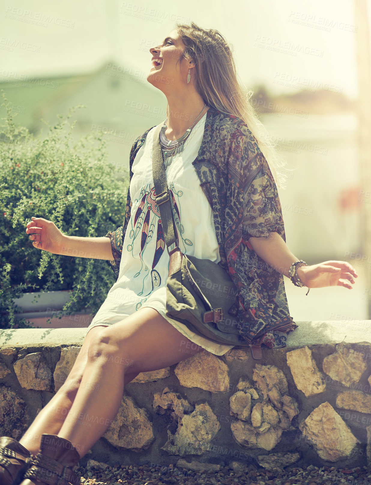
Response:
M150 129L132 146L130 180L135 155ZM298 325L289 315L283 275L257 256L249 243L250 237L267 237L271 231L286 242L281 204L267 160L240 118L210 107L192 164L213 210L218 264L229 273L238 291L229 310L238 333L254 348L286 347L286 336L279 332L287 334ZM117 277L131 207L128 191L123 226L106 234L114 257L107 263Z

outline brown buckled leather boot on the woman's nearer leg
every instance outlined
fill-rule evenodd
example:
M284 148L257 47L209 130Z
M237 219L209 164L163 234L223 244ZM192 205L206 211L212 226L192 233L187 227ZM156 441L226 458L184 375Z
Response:
M70 441L43 434L40 451L33 457L20 485L80 485L80 478L72 470L79 460L80 455Z

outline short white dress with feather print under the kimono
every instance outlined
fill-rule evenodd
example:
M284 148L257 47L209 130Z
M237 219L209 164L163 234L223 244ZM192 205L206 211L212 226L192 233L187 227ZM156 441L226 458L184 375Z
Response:
M187 255L218 263L219 246L213 212L192 165L201 146L205 120L206 113L192 129L183 152L176 155L166 169L166 176L179 248ZM118 279L86 333L96 325L117 323L142 307L152 307L189 340L221 356L234 345L214 343L166 315L169 254L159 208L153 196L152 143L155 129L153 127L148 132L132 166L132 209L122 245Z

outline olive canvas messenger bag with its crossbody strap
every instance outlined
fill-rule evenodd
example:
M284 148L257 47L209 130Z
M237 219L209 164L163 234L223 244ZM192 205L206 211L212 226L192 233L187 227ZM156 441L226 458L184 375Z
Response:
M236 320L228 310L236 300L237 289L231 277L217 263L183 254L177 244L164 157L159 141L161 125L153 135L153 184L169 253L166 287L166 313L184 323L192 332L224 345L251 347L253 359L261 359L261 345L250 344L240 335Z

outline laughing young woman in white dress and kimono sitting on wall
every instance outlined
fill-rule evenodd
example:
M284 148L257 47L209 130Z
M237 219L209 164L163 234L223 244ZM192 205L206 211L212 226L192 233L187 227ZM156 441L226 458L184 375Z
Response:
M297 325L289 316L283 275L297 286L351 289L354 268L344 261L307 266L288 249L267 159L277 181L283 179L276 170L281 162L271 146L258 141L259 122L220 33L193 22L177 24L150 52L147 80L168 100L160 143L178 245L229 272L238 289L231 309L236 332L252 344L286 346L278 333ZM43 218L27 224L35 248L53 254L82 250L86 257L106 259L118 279L88 326L64 385L19 442L0 438L3 484L79 483L72 468L116 417L124 386L138 373L205 350L220 356L232 348L166 315L169 253L153 188L154 130L139 136L130 153L122 227L83 238L66 236ZM89 427L91 416L98 420Z

